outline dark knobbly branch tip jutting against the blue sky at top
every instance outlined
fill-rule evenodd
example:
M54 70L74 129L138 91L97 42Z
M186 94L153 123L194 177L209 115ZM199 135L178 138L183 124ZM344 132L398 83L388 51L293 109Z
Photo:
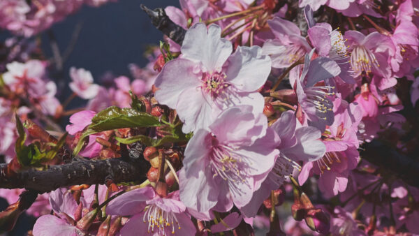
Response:
M152 24L166 34L169 38L175 41L177 44L182 45L182 42L185 38L186 30L179 25L172 22L168 15L164 12L163 8L156 8L151 10L141 4L141 9L149 15L150 19L152 19Z

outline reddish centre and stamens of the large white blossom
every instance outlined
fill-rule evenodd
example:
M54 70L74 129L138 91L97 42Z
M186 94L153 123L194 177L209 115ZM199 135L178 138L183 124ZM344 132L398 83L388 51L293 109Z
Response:
M224 93L224 89L229 86L226 83L226 73L204 73L203 74L203 90L210 94L213 98L216 98L220 94Z

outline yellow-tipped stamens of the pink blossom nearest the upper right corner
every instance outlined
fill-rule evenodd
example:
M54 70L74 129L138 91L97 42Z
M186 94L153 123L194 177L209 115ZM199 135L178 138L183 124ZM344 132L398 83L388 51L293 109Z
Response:
M374 66L380 67L374 53L364 46L356 46L353 48L351 66L357 73L361 73L362 71L370 73Z

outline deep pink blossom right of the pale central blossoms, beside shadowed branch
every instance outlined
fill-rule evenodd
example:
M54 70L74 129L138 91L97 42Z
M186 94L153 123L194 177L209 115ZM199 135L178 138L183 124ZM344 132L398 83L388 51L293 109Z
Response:
M320 175L318 186L327 196L337 195L346 189L349 170L353 170L359 161L357 132L362 110L359 105L337 98L334 112L335 121L323 133L325 155L304 163L298 176L300 184L303 184L310 174Z

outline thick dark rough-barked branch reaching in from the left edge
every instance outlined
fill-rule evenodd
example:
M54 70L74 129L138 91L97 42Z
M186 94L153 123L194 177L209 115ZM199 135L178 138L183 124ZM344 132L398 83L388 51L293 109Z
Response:
M144 158L135 161L124 158L105 160L80 160L64 165L50 165L46 170L22 170L13 176L4 174L7 164L1 164L0 189L29 189L45 193L55 189L80 184L105 184L112 182L142 182L147 179L149 163Z

